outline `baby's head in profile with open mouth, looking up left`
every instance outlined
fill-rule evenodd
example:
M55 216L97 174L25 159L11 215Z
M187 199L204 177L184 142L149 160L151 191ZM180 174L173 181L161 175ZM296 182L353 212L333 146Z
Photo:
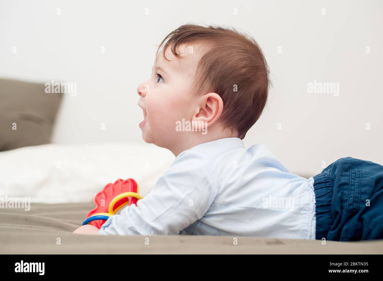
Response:
M200 143L243 139L259 119L268 93L268 67L246 34L186 24L159 45L152 76L137 92L142 138L177 156Z

